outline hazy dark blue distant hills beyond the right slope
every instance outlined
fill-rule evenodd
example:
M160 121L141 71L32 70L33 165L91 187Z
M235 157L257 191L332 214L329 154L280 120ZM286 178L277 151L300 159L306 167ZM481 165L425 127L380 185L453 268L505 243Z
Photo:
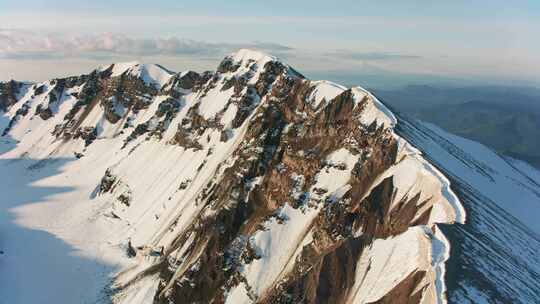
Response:
M374 90L395 110L540 167L540 90L407 86Z

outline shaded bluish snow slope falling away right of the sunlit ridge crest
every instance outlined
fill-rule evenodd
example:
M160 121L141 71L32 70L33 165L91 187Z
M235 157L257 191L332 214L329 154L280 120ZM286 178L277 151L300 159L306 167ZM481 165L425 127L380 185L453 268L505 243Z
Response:
M540 178L527 164L431 125L402 120L398 133L452 180L467 223L444 227L453 244L453 303L540 303Z

